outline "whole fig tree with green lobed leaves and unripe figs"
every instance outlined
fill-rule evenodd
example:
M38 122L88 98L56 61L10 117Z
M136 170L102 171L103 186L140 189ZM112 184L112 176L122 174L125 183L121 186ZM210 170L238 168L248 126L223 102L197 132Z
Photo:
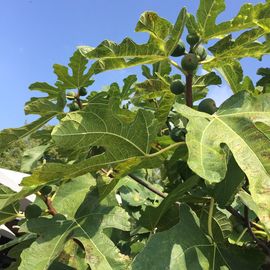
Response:
M270 53L270 2L217 24L224 9L201 0L175 24L145 12L136 31L147 43L79 47L53 66L55 85L30 85L44 96L25 113L39 118L0 133L2 151L40 142L22 161L22 190L1 186L1 223L20 219L18 237L0 246L8 269L269 269L270 68L253 82L239 60ZM144 81L90 91L99 73L132 66ZM200 103L222 79L233 95L219 108Z

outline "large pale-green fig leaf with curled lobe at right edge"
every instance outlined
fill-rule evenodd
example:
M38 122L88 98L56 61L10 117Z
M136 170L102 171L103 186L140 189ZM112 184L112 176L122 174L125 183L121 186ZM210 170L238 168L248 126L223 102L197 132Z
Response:
M270 232L270 140L257 123L270 125L270 95L257 97L247 92L232 96L214 115L178 105L189 119L188 164L209 184L220 182L227 170L226 144L249 179L249 189L258 206L256 213Z

